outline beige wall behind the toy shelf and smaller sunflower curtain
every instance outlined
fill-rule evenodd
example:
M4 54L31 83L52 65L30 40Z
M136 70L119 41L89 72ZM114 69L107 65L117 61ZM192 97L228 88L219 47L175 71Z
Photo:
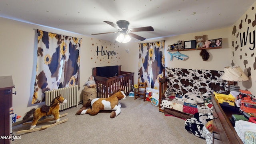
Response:
M177 60L173 58L170 60L170 54L165 51L165 66L171 68L191 68L191 69L204 69L204 70L224 70L225 66L231 65L231 28L223 28L218 30L211 30L205 32L197 32L192 34L184 34L180 36L172 36L161 39L146 40L143 42L154 42L159 40L165 41L165 48L168 44L174 44L178 40L188 41L195 40L195 36L208 35L208 40L222 38L222 48L220 49L210 49L207 50L210 54L210 58L207 61L202 60L202 56L199 55L200 50L189 50L189 51L180 51L180 53L189 56L187 60ZM138 42L124 44L125 48L129 49L130 53L128 54L122 50L121 56L122 68L135 72L135 82L138 79L138 52L139 46ZM173 53L173 52L172 52Z

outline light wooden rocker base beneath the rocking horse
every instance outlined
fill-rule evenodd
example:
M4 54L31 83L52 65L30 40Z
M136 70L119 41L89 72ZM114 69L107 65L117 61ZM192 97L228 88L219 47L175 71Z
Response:
M66 115L68 115L68 113L65 113L65 114L60 115L60 118L63 117L63 116L66 116ZM49 121L52 121L52 120L54 120L54 118L45 118L44 120L38 121L37 124L41 124L41 123L44 123L44 122L49 122ZM61 120L61 121L59 121L59 122L56 122L56 123L54 123L54 124L49 124L49 125L46 125L46 126L42 126L42 127L40 127L40 128L30 128L29 130L20 130L20 131L17 132L17 134L20 134L20 133L27 133L27 132L36 132L36 131L39 131L39 130L45 130L46 128L50 128L50 127L52 127L52 126L56 126L56 125L58 125L58 124L61 124L61 123L63 123L63 122L66 122L66 121L68 121L68 118L66 118L66 119L64 119L64 120ZM22 125L31 124L31 123L32 123L32 122L26 122L26 123L24 123L24 124L22 124Z

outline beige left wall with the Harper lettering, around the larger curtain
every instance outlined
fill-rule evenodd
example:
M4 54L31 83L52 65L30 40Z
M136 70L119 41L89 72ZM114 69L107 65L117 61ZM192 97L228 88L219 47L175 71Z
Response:
M66 36L74 36L82 38L82 47L80 49L80 100L82 100L82 90L84 83L92 75L92 68L97 66L120 65L120 48L118 43L108 42L104 40L92 39L90 37L27 24L0 18L0 76L12 76L17 94L13 95L14 113L24 116L31 108L37 108L41 104L31 105L31 98L34 90L36 54L37 54L37 33L36 29L63 34ZM116 52L116 55L101 55L103 46L104 51ZM18 119L19 121L21 119Z

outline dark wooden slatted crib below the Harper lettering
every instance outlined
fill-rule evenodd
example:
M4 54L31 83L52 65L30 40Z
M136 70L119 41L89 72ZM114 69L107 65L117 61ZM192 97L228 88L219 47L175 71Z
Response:
M134 72L121 71L121 66L92 68L92 76L96 82L97 98L108 98L119 88L128 96L134 85Z

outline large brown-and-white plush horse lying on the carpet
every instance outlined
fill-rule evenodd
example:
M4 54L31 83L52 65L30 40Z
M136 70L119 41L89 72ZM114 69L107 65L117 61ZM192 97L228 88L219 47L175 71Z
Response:
M121 112L121 104L118 100L125 99L126 95L121 89L113 92L108 98L94 98L83 105L80 110L76 112L76 115L81 114L98 114L100 110L113 110L110 114L110 118L118 116Z

